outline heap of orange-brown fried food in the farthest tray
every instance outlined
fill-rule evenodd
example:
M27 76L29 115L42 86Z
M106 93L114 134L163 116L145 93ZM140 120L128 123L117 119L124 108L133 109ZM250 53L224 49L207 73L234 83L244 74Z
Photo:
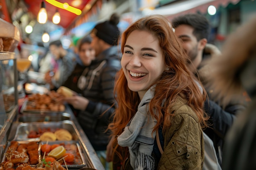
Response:
M65 106L62 104L61 99L64 96L56 91L50 91L47 94L32 94L28 97L25 110L49 110L49 111L65 111Z

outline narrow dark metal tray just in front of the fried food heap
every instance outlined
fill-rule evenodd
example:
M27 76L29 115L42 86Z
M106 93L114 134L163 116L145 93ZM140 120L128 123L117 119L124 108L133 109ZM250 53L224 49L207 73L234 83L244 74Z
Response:
M18 122L43 122L43 121L64 121L70 120L71 115L69 113L42 113L34 114L27 113L25 115L18 115Z

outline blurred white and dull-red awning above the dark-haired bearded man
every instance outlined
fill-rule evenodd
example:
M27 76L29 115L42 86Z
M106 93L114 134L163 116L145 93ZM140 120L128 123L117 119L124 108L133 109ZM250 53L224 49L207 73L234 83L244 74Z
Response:
M155 13L166 16L169 20L172 20L177 15L183 15L186 13L206 13L210 5L218 8L219 6L227 7L228 4L237 4L240 0L186 0L182 2L176 2L164 7L155 9Z

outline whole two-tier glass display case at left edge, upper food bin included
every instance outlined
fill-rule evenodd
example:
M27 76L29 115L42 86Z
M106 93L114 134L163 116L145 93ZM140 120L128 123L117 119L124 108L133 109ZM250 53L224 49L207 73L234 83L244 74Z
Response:
M16 26L0 18L0 154L18 114L18 73L15 51L20 41Z

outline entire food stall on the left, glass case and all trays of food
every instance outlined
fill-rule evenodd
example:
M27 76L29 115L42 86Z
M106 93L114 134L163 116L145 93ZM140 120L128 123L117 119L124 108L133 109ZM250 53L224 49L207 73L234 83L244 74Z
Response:
M1 168L7 168L4 166L6 162L11 163L12 168L17 168L23 163L27 163L26 166L33 168L41 165L43 167L46 158L53 157L66 169L93 168L104 170L90 141L68 105L59 104L57 109L53 109L55 105L52 105L52 109L36 108L36 106L43 104L35 103L36 98L33 97L43 97L44 101L47 99L54 100L55 93L47 91L45 94L39 94L31 91L29 97L26 98L19 95L20 91L24 90L22 86L24 82L18 83L18 60L14 50L12 50L17 46L16 42L19 41L19 32L14 25L4 20L0 20L0 22L4 28L9 27L7 30L4 29L7 33L2 31L3 35L0 36L2 43L0 45L7 48L6 41L11 39L8 49L1 49L0 51L0 160L1 163L4 162L0 164ZM22 63L21 65L26 64ZM19 85L21 85L20 88L18 88ZM22 105L18 99L22 101ZM28 107L29 105L31 108ZM49 146L55 144L59 146L56 148L63 148L63 150L56 151L56 148L51 148L49 152L46 152L43 149L45 144ZM66 159L65 154L67 156L72 155L71 160Z

